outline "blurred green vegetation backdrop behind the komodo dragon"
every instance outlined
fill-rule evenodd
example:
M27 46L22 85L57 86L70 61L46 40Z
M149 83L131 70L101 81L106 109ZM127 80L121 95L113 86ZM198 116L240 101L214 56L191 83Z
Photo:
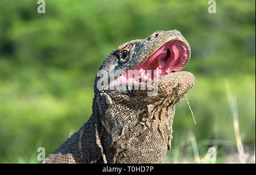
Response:
M54 151L92 114L93 83L118 45L156 30L177 29L192 49L184 70L195 86L176 105L174 163L189 133L200 156L220 140L219 160L236 153L225 82L237 99L242 141L255 149L255 1L0 1L0 163L39 163L38 147ZM185 152L183 151L185 150ZM179 162L181 160L177 160Z

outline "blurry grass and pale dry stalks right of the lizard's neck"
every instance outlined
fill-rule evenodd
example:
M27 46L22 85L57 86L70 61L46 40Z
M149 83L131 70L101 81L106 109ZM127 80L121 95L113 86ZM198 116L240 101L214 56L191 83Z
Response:
M200 145L200 148L196 141L196 136L193 132L189 132L188 138L181 140L178 149L169 151L165 163L195 163L195 164L215 164L215 163L238 163L238 164L255 164L255 144L254 150L253 147L249 148L247 152L243 147L241 134L240 134L240 125L238 121L238 105L237 99L232 94L230 90L229 81L226 80L226 95L228 97L228 103L230 112L233 118L233 131L236 138L236 147L237 150L234 151L234 144L226 144L228 140L208 140L209 147L204 147ZM187 102L188 98L186 97ZM189 110L191 107L188 103ZM191 110L192 113L192 110ZM193 115L193 113L192 113ZM193 116L194 119L194 116ZM194 119L195 121L195 119ZM216 125L217 128L217 125ZM217 129L216 129L217 130ZM215 131L216 132L216 131ZM216 134L216 133L215 133ZM230 149L232 152L221 151L221 154L218 154L218 143L225 142L222 144L220 149ZM224 146L223 146L224 145ZM208 149L207 149L208 148ZM200 156L199 149L204 153L204 156ZM219 157L218 157L219 156ZM174 158L173 158L174 157Z

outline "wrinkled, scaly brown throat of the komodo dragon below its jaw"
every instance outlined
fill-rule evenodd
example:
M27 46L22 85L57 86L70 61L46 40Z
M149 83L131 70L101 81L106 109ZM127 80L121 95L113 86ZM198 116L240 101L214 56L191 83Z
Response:
M108 163L163 163L171 148L175 106L114 106L100 116Z

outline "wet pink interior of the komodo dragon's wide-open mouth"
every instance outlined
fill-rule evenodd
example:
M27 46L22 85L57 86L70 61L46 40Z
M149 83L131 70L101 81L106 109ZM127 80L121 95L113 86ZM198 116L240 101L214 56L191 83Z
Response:
M125 74L117 77L115 83L140 83L154 81L162 76L172 72L178 72L185 68L189 61L189 49L183 41L171 40L164 44L153 53L146 61L139 64L131 70L137 70L138 73L127 70ZM152 70L155 70L155 74ZM137 72L136 71L136 72ZM148 74L151 72L151 74Z

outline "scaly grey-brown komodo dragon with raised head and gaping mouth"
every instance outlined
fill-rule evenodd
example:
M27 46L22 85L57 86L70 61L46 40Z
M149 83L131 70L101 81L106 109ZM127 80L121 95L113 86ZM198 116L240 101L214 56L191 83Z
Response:
M43 163L163 163L171 148L175 103L195 82L193 74L179 72L190 56L177 30L120 45L100 67L107 72L95 79L92 116ZM115 77L118 70L125 74ZM129 76L129 70L139 74ZM148 76L151 70L154 76ZM98 87L102 76L108 77L105 88ZM145 82L152 88L142 89ZM126 88L111 88L117 84Z

